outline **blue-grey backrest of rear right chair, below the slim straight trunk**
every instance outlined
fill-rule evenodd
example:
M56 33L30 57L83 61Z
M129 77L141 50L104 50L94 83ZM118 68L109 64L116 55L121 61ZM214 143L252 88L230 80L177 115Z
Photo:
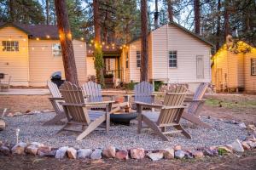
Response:
M148 104L152 104L152 94L154 92L153 85L148 82L140 82L134 86L134 100Z

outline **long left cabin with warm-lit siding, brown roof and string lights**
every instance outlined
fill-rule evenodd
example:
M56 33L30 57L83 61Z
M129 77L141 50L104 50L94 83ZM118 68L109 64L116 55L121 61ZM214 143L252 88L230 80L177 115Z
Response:
M79 83L83 83L87 79L85 42L73 39L73 48ZM56 26L0 23L0 73L11 77L11 85L42 87L55 71L65 78Z

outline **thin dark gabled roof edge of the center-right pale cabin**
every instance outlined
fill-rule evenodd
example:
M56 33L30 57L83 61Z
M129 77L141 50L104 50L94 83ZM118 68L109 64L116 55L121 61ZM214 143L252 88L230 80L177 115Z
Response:
M166 25L167 25L167 24L166 24ZM166 26L166 25L163 25L163 26ZM180 25L178 25L177 23L175 23L175 22L173 22L173 21L169 22L168 25L169 25L169 26L176 26L176 27L179 28L180 30L182 30L182 31L188 33L189 35L191 35L192 37L195 37L195 38L201 40L201 42L205 42L205 43L207 43L207 45L209 45L209 46L211 46L211 47L213 46L212 42L207 41L204 37L201 37L201 36L195 34L194 32L189 31L189 30L186 29L185 27L180 26ZM160 26L160 27L162 27L162 26ZM159 29L160 27L158 27L158 28L156 28L156 29L154 29L154 30L152 30L152 31L150 31L150 32L153 32L153 31ZM148 32L148 35L149 35L150 32ZM131 42L135 42L135 41L139 40L140 38L141 38L141 37L137 37L137 38L131 40ZM128 42L128 43L131 43L131 42Z

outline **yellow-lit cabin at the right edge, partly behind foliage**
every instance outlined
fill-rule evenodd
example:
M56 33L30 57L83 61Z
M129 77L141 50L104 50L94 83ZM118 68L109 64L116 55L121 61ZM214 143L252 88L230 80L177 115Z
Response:
M256 48L246 42L224 44L212 56L212 84L217 91L256 92Z

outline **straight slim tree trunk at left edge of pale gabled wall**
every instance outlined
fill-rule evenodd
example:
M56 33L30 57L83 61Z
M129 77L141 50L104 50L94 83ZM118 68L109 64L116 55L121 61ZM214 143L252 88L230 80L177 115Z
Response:
M148 18L147 0L141 0L141 22L142 22L142 65L141 82L148 82Z

